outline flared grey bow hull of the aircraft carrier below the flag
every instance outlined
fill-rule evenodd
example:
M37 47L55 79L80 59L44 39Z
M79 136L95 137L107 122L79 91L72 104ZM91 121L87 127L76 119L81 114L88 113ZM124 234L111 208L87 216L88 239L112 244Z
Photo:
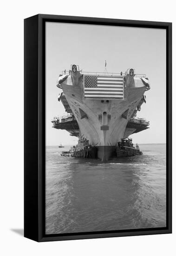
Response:
M124 138L127 122L146 90L142 82L139 86L138 81L137 87L134 83L129 84L124 90L123 100L102 101L84 98L83 80L79 74L78 79L72 79L71 74L61 83L66 100L78 122L80 138L84 137L91 146L96 146L98 158L103 161L111 158L118 142Z

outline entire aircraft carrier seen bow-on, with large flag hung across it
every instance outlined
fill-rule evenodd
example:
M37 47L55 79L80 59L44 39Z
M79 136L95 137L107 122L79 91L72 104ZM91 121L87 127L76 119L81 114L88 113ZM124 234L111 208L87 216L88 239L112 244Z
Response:
M137 119L144 93L150 89L144 74L134 69L125 73L82 72L77 65L59 76L57 86L67 116L55 117L54 128L64 128L97 148L98 158L108 160L124 137L148 128Z

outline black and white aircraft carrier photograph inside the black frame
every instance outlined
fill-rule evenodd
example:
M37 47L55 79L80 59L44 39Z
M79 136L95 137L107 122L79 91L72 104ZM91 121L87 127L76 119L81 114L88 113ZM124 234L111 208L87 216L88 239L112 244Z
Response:
M46 235L166 228L166 29L45 33Z

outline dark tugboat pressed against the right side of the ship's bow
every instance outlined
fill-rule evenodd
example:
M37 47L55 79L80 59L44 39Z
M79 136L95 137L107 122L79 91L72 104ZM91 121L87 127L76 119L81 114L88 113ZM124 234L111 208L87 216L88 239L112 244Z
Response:
M143 155L143 152L140 151L140 148L137 144L136 148L133 146L131 138L124 138L121 140L121 142L118 142L116 153L117 157Z

